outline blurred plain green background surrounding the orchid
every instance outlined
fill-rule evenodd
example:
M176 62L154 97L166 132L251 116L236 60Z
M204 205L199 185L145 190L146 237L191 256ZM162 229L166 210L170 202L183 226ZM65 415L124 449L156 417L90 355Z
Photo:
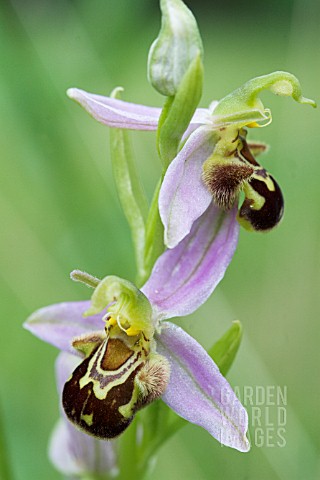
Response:
M304 94L319 102L318 0L186 3L205 47L201 106L274 70L297 75ZM109 94L121 85L126 100L161 106L146 80L160 15L156 0L2 0L0 22L1 423L12 477L54 480L61 476L47 443L58 418L57 351L22 323L41 306L88 298L68 278L74 268L134 278L107 128L65 91ZM320 478L319 112L271 94L263 99L274 121L250 138L272 146L262 161L282 186L284 221L266 235L242 231L222 284L180 323L210 347L232 320L242 321L244 341L228 378L240 391L287 387L286 445L255 445L247 404L250 453L221 448L188 425L160 451L156 480ZM132 141L151 197L160 173L155 135L133 133ZM261 422L266 437L267 419Z

